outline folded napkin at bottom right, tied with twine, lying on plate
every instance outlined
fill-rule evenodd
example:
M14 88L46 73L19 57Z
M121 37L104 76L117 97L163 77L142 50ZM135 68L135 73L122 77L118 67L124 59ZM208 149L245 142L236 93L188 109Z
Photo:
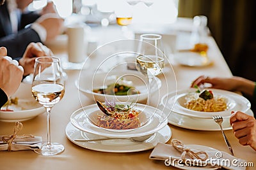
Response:
M191 148L191 150L193 150L193 148ZM193 151L195 152L195 150L193 150ZM202 161L203 162L202 165L204 165L204 166L207 165L207 167L223 167L225 169L236 169L236 170L246 169L246 167L239 167L239 165L241 165L241 162L246 162L246 160L238 159L226 152L220 152L220 151L211 151L211 152L205 151L205 152L208 154L209 160L205 160L207 162ZM220 153L221 157L217 158L218 156L216 155L216 153ZM178 150L173 148L172 145L157 143L157 146L154 148L154 150L150 154L149 159L164 160L164 161L171 160L171 162L169 163L169 166L170 165L173 166L173 164L174 164L173 160L175 160L175 161L181 160L180 156L181 156L181 152L179 152ZM204 157L204 155L202 157ZM188 156L186 156L186 159L189 159L190 161L188 161L188 163L192 162L192 164L190 166L193 166L193 159L191 159ZM212 159L213 164L211 164L211 162L210 162L211 159ZM225 160L230 160L229 161L230 166L226 163ZM234 161L234 162L232 163L232 161Z

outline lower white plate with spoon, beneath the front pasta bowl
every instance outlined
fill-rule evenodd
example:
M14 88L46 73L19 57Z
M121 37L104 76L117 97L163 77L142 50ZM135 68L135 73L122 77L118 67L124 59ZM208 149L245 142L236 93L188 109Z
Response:
M157 145L157 143L166 143L172 136L172 131L168 125L165 125L163 129L157 131L153 136L147 140L138 143L132 142L129 139L113 139L109 141L94 141L94 142L78 142L75 139L97 139L102 138L95 134L83 132L74 127L70 122L66 127L66 136L72 141L72 143L87 148L90 150L96 150L100 152L140 152L143 150L150 150Z

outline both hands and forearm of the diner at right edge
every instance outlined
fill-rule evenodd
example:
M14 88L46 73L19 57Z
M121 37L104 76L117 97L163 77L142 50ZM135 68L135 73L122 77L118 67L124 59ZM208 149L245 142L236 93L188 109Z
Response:
M210 78L208 76L199 76L196 78L191 87L200 86L209 83L213 89L222 89L228 91L239 91L243 94L256 98L256 82L233 76L230 78ZM256 103L255 103L256 104ZM249 145L256 151L256 120L254 117L241 111L232 111L230 117L234 136L239 140L241 145Z

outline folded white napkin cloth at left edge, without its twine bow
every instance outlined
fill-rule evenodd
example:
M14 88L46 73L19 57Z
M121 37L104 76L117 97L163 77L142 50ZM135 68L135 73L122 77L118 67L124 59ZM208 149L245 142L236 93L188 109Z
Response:
M8 150L8 143L3 142L2 137L3 136L0 136L0 150ZM35 136L34 138L14 139L11 146L11 150L36 150L40 149L41 145L41 136Z

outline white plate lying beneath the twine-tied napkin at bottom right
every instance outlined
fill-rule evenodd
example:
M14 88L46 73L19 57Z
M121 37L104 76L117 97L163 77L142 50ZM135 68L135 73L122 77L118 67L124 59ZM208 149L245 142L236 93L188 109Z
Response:
M200 151L205 151L205 152L218 152L218 150L208 147L208 146L203 146L203 145L186 145L186 147L194 149L194 150L200 150ZM171 164L172 165L172 164ZM204 170L212 170L212 169L218 169L218 167L195 167L195 166L180 166L179 164L177 164L177 162L175 162L174 167L177 167L179 169L186 169L186 170L190 170L190 169L204 169Z

